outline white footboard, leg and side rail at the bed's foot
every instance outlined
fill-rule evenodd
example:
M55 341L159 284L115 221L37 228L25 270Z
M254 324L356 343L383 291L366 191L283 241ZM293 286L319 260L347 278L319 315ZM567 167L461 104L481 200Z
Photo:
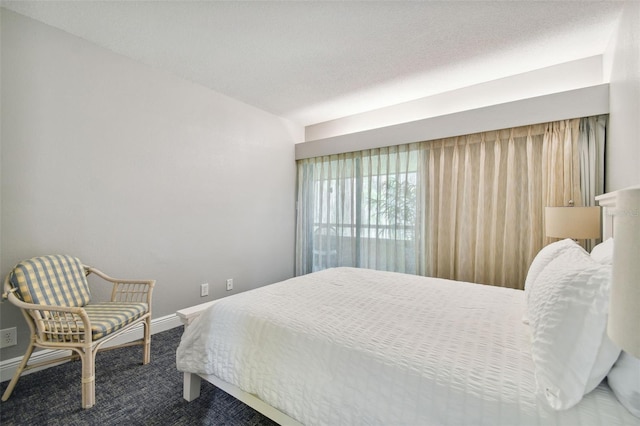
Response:
M200 315L202 311L213 305L216 301L203 303L201 305L192 306L189 308L181 309L176 312L180 321L184 324L185 329ZM224 380L213 375L200 375L197 373L184 373L182 396L187 401L191 402L200 396L200 388L202 386L202 380L205 380L218 389L228 393L237 400L245 403L249 407L253 408L260 414L270 418L274 422L283 426L302 426L302 423L289 417L277 408L267 404L256 395L248 393L240 389L239 387L225 382Z

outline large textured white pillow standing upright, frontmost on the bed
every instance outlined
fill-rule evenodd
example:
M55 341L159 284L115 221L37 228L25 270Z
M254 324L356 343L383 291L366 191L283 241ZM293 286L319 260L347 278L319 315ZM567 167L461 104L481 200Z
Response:
M606 337L611 266L567 247L532 283L528 315L538 391L556 410L580 402L620 354Z

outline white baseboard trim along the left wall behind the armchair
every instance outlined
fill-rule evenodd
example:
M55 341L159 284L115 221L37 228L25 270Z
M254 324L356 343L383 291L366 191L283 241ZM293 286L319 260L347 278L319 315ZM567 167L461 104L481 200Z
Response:
M176 314L167 315L160 318L155 318L151 320L151 334L161 333L163 331L171 330L172 328L179 327L182 325L180 322L180 318ZM123 343L133 342L134 340L141 339L143 334L143 325L138 324L135 327L127 330L122 333L120 336L111 340L108 343L105 343L105 347L121 345ZM151 343L153 345L153 341ZM68 355L71 355L71 351L56 351L53 349L42 349L37 352L34 352L31 355L31 359L29 360L32 364L36 362L46 362L51 361L61 356L64 356L63 352L68 352ZM98 355L99 356L99 355ZM0 362L0 382L4 382L7 380L11 380L13 375L16 373L20 362L22 361L22 356L7 359L5 361ZM34 368L33 370L28 370L22 373L22 375L30 374L35 371L44 370L45 368L53 367L54 365L60 365L62 362L58 364L49 364L40 368Z

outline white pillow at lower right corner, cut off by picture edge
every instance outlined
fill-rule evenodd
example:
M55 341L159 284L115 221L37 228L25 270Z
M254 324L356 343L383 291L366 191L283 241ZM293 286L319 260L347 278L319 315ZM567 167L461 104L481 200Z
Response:
M607 380L618 401L631 414L640 417L640 359L623 351Z

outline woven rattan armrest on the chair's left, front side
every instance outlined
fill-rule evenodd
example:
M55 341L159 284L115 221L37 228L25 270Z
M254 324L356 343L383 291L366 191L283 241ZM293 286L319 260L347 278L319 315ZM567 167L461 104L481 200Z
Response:
M91 344L91 321L83 308L26 303L14 292L15 289L7 291L2 297L29 316L41 341L73 343L73 346L77 346L79 341Z

